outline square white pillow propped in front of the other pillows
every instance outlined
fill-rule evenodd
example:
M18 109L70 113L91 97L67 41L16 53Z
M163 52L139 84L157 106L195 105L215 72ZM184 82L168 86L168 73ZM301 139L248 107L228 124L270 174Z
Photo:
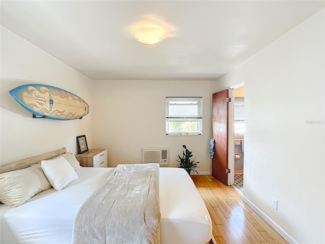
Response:
M74 168L63 157L53 160L42 160L41 166L45 176L56 191L62 190L72 181L78 179Z

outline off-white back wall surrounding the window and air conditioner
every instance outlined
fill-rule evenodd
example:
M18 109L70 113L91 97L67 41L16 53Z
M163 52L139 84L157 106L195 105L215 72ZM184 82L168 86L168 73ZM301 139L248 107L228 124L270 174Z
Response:
M211 85L215 81L100 81L93 84L93 145L108 148L108 165L141 163L142 147L169 147L171 166L178 167L182 145L200 161L198 171L211 171ZM203 135L166 136L168 96L203 97Z

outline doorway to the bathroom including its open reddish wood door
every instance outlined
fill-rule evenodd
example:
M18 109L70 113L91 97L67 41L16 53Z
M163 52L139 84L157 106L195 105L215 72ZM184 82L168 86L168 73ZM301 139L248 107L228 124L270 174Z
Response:
M244 173L243 100L244 82L230 87L230 89L212 94L212 138L215 139L212 176L224 185L234 186L236 173L236 185L238 186L238 183L241 183L241 190L243 189ZM235 107L236 114L234 112Z

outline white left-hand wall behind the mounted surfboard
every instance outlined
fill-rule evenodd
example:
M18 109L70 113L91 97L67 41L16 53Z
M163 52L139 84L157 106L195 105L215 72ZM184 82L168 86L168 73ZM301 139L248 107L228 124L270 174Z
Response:
M1 164L66 146L77 153L76 136L92 145L90 79L1 26ZM28 83L53 85L83 98L90 113L82 119L32 118L9 90Z

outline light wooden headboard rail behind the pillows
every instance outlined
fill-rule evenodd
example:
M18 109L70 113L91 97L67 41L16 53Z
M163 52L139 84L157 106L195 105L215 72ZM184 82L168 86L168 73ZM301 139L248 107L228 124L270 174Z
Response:
M41 155L31 157L28 159L23 159L23 160L20 160L20 161L11 163L11 164L5 164L5 165L0 166L0 173L12 171L12 170L27 166L29 164L40 162L41 160L47 160L47 159L54 158L56 156L59 156L61 154L65 154L65 153L67 153L67 147L63 147L61 149L58 149L55 151L50 151L49 153L41 154Z

